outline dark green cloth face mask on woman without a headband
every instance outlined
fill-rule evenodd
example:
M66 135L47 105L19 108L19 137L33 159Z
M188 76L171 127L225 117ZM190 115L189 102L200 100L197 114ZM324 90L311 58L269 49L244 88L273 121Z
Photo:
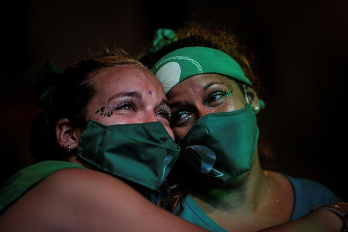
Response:
M109 174L156 190L179 152L160 122L105 126L89 121L77 156Z

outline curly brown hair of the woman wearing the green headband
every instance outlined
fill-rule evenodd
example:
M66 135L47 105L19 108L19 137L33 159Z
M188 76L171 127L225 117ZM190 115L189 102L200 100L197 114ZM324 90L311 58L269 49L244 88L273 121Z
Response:
M253 89L255 92L258 95L260 94L263 87L258 77L255 57L245 48L245 46L241 45L235 36L228 32L226 28L212 24L190 22L187 23L186 26L177 30L176 39L176 41L160 48L155 53L146 53L140 61L151 68L160 58L179 48L203 46L218 49L227 53L239 63L246 77L248 77L248 79L253 83ZM272 166L270 165L270 160L273 155L269 144L267 143L267 139L264 139L262 136L259 137L259 157L263 168L269 168ZM178 176L180 176L180 167L176 167L176 169L177 170L175 170L174 167L174 171L169 174L167 181L164 183L167 191L163 191L164 194L159 199L158 205L169 211L180 214L183 210L182 199L186 197L189 190L184 187L184 184L180 183L182 178L178 178Z

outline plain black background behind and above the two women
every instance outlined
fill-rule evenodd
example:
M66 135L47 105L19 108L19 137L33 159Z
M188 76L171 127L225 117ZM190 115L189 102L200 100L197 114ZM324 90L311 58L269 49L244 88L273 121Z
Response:
M276 2L23 1L4 5L0 16L0 185L32 162L29 130L39 110L32 106L37 96L28 89L47 60L64 69L88 56L89 50L100 51L104 43L135 55L158 27L175 29L194 18L227 26L258 57L266 86L261 95L266 109L259 122L273 144L277 170L318 181L348 201L348 3Z

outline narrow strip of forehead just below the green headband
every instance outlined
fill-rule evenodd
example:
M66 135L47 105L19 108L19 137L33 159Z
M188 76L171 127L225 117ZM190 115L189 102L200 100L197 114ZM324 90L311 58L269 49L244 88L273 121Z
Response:
M188 92L203 92L204 89L212 83L223 83L224 85L232 86L235 82L233 79L217 73L194 75L174 86L168 92L167 98L169 100L175 96Z

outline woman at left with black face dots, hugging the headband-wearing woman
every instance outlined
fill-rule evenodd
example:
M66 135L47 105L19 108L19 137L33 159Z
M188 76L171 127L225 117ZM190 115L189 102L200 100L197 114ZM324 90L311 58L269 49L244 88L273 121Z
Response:
M33 90L37 163L2 187L0 231L205 231L132 188L158 189L180 150L163 88L139 61L118 50L64 73L47 63Z

